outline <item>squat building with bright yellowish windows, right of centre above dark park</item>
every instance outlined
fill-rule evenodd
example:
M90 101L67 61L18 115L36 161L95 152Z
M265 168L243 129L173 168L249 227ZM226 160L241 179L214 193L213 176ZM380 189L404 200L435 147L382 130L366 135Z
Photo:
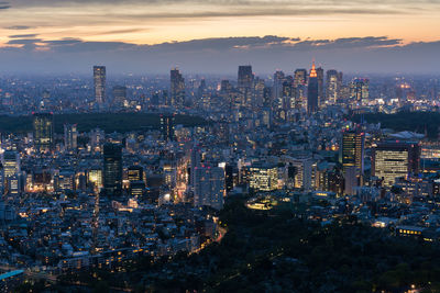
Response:
M255 191L278 189L278 169L275 166L254 164L250 168L250 188Z

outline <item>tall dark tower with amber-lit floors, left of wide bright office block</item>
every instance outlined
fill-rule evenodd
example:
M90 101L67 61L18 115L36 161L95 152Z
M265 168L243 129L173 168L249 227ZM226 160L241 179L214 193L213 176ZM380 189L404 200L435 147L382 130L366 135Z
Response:
M341 145L341 162L344 173L348 168L354 167L358 176L363 174L365 134L360 131L344 132Z

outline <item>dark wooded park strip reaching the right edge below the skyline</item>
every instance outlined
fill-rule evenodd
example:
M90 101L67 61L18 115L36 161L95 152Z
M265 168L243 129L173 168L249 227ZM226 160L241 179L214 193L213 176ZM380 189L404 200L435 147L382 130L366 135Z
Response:
M415 133L428 132L431 139L438 138L440 126L440 113L438 112L398 112L396 114L364 114L364 121L367 123L378 123L383 128L392 128L396 132L409 131ZM361 122L362 115L353 115L354 122Z

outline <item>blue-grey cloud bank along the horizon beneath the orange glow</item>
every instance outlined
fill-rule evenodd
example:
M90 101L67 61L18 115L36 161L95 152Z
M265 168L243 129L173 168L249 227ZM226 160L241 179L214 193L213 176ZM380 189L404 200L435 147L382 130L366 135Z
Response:
M44 41L12 35L0 48L2 72L89 72L103 64L109 74L166 74L179 66L185 72L233 74L252 64L260 74L308 68L315 58L326 69L349 72L439 72L439 42L403 44L385 36L300 40L284 36L205 38L135 45L86 42L78 38Z

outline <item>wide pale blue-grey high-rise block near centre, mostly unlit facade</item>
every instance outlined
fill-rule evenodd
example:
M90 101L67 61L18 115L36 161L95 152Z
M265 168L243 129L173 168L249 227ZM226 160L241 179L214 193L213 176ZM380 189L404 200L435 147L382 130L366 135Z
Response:
M220 167L196 167L194 181L194 205L223 207L226 195L224 169Z

